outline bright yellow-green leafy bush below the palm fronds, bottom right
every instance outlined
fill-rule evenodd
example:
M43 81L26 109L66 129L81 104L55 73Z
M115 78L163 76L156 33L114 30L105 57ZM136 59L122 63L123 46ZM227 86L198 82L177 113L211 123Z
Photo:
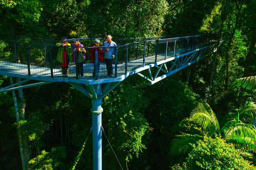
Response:
M241 150L219 137L204 137L192 146L186 163L183 166L175 165L172 169L255 169L251 162L241 156Z

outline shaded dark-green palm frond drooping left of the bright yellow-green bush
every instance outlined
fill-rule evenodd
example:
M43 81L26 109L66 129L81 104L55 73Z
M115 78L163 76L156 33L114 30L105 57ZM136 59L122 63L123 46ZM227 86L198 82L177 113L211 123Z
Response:
M171 145L171 154L180 155L186 154L191 151L191 144L196 143L198 140L203 140L204 137L198 134L187 134L183 133L180 135L176 135L177 139L172 141Z

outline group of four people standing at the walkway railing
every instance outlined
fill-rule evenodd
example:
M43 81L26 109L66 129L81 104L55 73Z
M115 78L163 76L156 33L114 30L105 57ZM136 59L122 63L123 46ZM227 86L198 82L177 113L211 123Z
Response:
M68 77L68 67L70 62L76 62L77 55L77 65L78 65L78 77L84 79L84 70L83 70L83 62L85 61L85 53L86 50L83 45L79 42L78 39L74 40L73 49L71 49L71 45L67 42L66 37L61 38L61 42L56 44L59 47L59 52L57 55L57 61L61 63L61 69L63 77ZM105 57L105 63L107 67L107 75L106 78L113 77L113 60L115 58L115 51L117 52L116 43L112 41L112 37L110 35L107 36L107 41L104 42L103 48L100 45L100 40L95 39L94 44L89 49L89 53L92 55L92 63L93 67L93 79L98 80L99 71L100 71L100 63L103 62L103 55ZM98 58L95 56L98 55Z

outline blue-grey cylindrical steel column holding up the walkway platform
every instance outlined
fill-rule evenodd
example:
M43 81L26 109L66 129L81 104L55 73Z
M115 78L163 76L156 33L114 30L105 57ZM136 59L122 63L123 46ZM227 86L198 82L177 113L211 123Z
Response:
M101 94L101 84L94 85L97 96ZM101 134L101 108L102 100L92 100L92 139L93 139L93 169L102 169L102 134Z

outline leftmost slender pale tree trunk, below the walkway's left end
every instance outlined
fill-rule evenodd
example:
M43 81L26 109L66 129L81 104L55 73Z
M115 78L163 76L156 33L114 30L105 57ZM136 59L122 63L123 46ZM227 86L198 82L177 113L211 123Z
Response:
M10 82L11 85L13 84L13 80L12 77L10 77ZM13 102L14 102L14 109L15 109L15 116L16 116L16 121L17 123L20 122L20 116L19 116L19 108L18 108L18 103L17 103L17 98L15 95L15 91L12 91L12 98L13 98ZM22 143L22 135L18 131L18 135L19 135L19 146L20 146L20 157L21 157L21 163L22 163L22 169L26 170L26 162L25 162L25 156L24 156L24 152L23 152L23 143Z

